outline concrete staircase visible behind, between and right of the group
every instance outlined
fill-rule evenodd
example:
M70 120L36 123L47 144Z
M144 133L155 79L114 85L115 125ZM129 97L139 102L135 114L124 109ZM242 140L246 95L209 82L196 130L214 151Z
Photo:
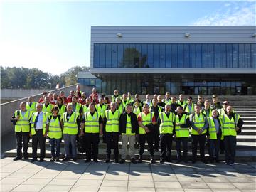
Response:
M204 97L210 98L210 97ZM196 100L196 96L194 97ZM235 109L235 112L240 114L240 117L245 122L242 127L242 132L237 136L237 161L256 161L256 96L220 96L220 102L223 100L228 100L230 104ZM14 138L15 139L15 138ZM176 159L176 149L175 142L172 146L172 158ZM31 142L29 144L31 146ZM121 149L121 142L119 142L119 149ZM100 138L99 146L99 158L105 159L105 149L106 144L102 143L102 138ZM28 152L31 156L32 149L28 148ZM38 149L39 152L39 149ZM120 151L119 151L120 152ZM61 144L60 157L64 156L64 144ZM39 154L38 154L39 155ZM136 155L138 155L138 150ZM159 152L155 153L156 159L159 159ZM199 151L198 151L199 155ZM4 156L16 156L16 149L11 149L4 153ZM149 152L146 150L144 152L145 159L149 159ZM188 156L191 156L191 142L188 142ZM206 156L208 156L208 147L206 146ZM50 157L50 144L48 139L46 139L46 157ZM85 154L78 154L78 158L85 158ZM220 160L224 160L224 154L220 154Z

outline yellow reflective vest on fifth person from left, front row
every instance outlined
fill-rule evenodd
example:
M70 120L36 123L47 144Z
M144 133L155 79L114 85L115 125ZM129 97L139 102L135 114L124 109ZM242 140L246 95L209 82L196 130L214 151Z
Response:
M100 114L98 112L94 112L93 116L90 112L85 113L85 133L98 133L99 129L99 119Z

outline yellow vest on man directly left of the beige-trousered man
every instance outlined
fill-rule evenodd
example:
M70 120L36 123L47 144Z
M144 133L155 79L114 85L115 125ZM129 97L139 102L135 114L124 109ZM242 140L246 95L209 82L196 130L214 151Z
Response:
M119 132L119 110L115 110L114 114L111 110L105 111L107 118L106 132Z

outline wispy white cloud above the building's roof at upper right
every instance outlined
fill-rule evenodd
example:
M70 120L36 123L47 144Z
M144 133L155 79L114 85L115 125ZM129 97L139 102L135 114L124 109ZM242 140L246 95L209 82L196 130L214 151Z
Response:
M254 2L233 2L226 3L214 14L203 16L192 23L193 26L255 26L256 3Z

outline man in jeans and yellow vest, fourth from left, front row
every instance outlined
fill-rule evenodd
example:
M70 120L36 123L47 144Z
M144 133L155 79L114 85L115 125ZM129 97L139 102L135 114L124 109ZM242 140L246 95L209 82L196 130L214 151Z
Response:
M65 157L62 161L68 161L72 156L73 161L77 160L76 137L78 129L85 126L85 118L80 118L80 114L73 112L73 104L67 105L67 112L63 113L63 139L65 144ZM71 153L70 154L70 146Z

